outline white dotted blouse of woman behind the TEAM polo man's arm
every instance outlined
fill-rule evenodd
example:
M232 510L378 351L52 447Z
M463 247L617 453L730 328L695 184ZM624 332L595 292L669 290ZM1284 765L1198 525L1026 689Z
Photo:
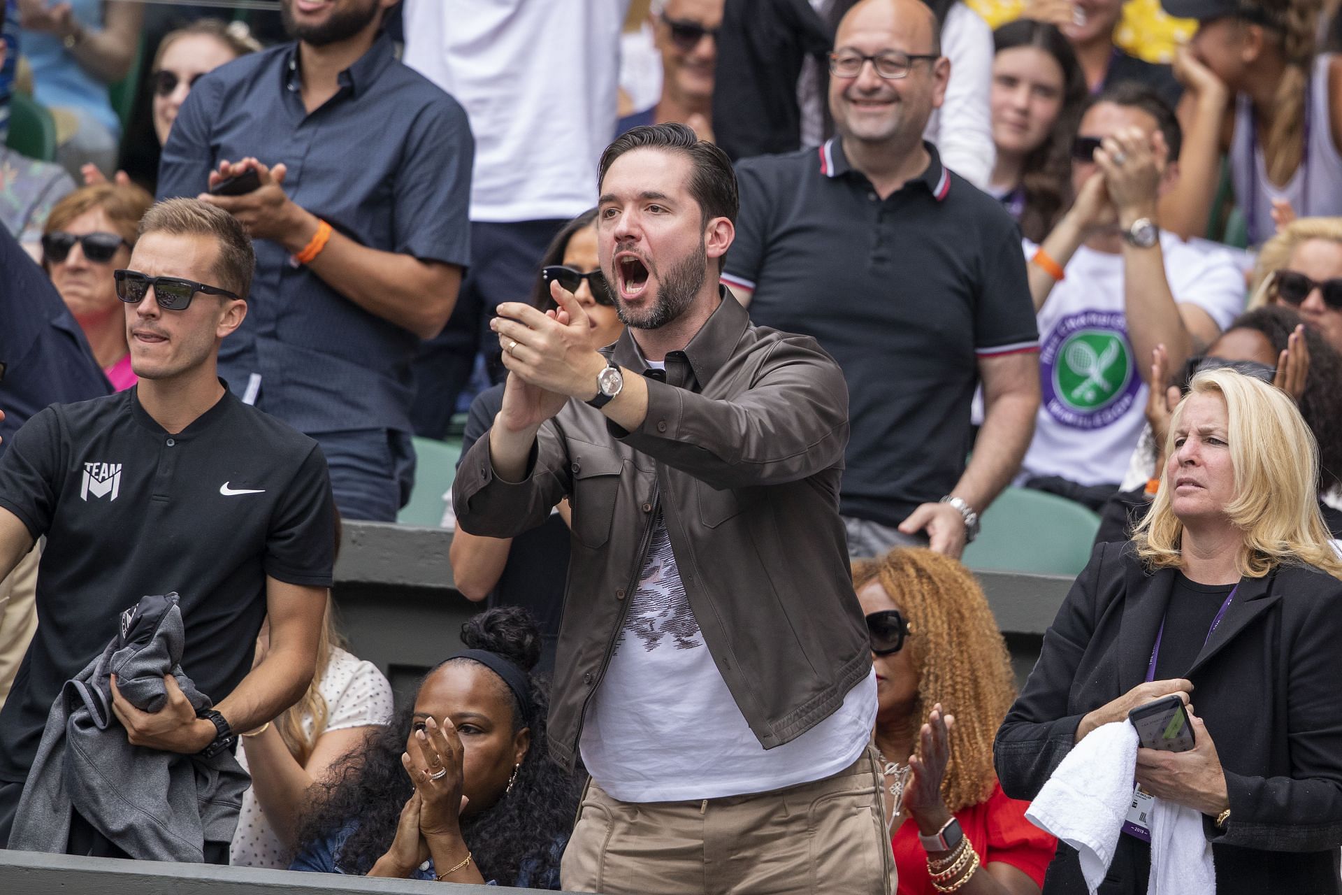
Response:
M392 719L392 684L377 666L352 656L340 647L331 648L331 659L317 690L326 700L326 733L385 725ZM303 718L303 729L311 733L310 717ZM247 750L242 745L238 747L238 764L247 770ZM293 853L266 820L256 793L248 786L243 793L243 809L228 849L228 863L287 870L293 859Z

